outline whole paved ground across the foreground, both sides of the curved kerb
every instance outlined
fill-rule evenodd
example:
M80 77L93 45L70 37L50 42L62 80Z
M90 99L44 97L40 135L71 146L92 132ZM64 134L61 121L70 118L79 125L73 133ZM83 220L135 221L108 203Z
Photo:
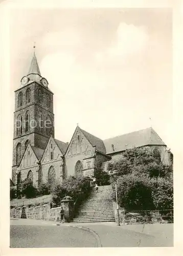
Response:
M83 226L98 234L102 247L173 246L173 224L117 226L116 223L64 223L19 219L10 222L11 247L97 247L97 239Z

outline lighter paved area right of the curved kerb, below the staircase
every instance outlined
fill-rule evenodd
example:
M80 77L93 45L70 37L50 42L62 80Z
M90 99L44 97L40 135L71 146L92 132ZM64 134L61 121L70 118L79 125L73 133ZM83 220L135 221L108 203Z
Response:
M169 247L173 246L173 224L82 225L94 230L102 247Z

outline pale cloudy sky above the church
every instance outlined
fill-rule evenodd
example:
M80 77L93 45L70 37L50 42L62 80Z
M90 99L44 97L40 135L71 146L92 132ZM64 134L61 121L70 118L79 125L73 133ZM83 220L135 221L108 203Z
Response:
M28 73L34 41L54 92L55 138L70 142L79 123L107 139L149 127L151 117L171 147L171 9L12 9L10 143L14 90Z

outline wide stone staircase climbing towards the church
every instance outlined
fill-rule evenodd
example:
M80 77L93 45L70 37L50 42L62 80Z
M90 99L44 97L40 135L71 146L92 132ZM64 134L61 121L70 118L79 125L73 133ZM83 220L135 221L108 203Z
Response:
M95 188L87 201L80 205L78 215L73 222L109 222L115 221L113 204L110 198L112 187L99 186L99 193Z

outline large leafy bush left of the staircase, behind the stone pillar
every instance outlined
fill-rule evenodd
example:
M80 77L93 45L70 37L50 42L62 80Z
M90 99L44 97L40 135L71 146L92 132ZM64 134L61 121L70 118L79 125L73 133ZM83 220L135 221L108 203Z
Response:
M53 203L57 206L63 197L70 196L74 201L78 199L80 202L88 197L90 193L90 178L89 177L74 177L70 176L63 180L62 184L58 184L52 191Z

